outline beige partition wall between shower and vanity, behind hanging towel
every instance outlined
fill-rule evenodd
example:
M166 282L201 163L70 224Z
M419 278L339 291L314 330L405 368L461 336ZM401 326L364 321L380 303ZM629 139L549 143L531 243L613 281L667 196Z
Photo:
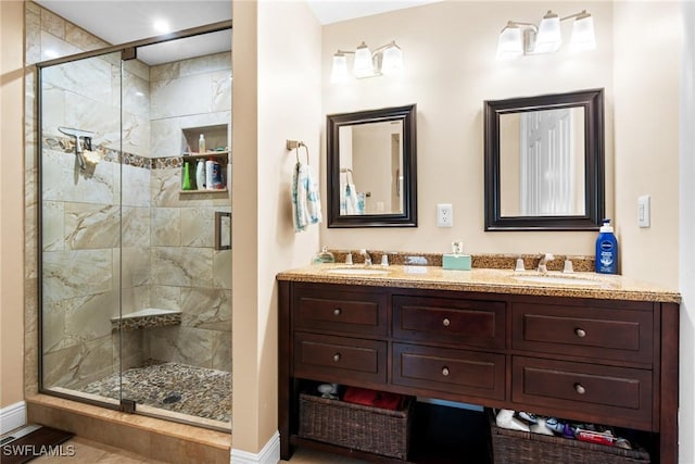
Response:
M232 449L256 453L277 431L275 276L318 248L317 226L294 234L285 145L303 140L321 167L321 30L304 2L232 5Z

